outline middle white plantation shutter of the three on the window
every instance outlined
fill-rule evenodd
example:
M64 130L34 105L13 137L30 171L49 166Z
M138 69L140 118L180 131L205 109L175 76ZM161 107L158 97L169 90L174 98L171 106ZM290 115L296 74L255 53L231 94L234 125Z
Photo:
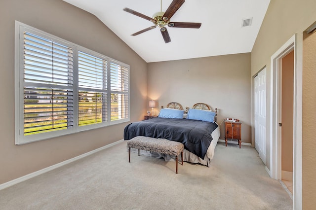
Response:
M107 61L79 51L79 126L107 121Z

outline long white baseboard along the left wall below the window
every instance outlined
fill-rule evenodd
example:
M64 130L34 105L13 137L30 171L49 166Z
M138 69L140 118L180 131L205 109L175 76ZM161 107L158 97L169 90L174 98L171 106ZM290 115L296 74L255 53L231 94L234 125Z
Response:
M13 179L13 180L11 180L11 181L8 181L8 182L5 182L5 183L3 183L3 184L0 184L0 190L2 190L2 189L4 189L4 188L7 188L7 187L9 187L9 186L12 186L12 185L14 185L14 184L20 183L20 182L22 182L22 181L28 180L28 179L30 179L30 178L33 178L33 177L35 177L35 176L44 174L44 173L49 172L49 171L51 171L51 170L57 169L57 168L59 168L59 167L61 167L61 166L67 165L67 164L69 164L69 163L71 163L71 162L74 162L74 161L76 161L76 160L79 160L79 159L81 159L81 158L84 158L84 157L86 157L86 156L89 156L89 155L91 155L91 154L93 154L93 153L96 153L96 152L98 152L98 151L101 151L101 150L103 150L103 149L106 149L106 148L109 148L109 147L111 147L111 146L114 146L114 145L118 144L118 143L121 142L121 141L124 141L124 140L118 140L118 141L116 141L116 142L113 142L113 143L110 143L110 144L108 144L108 145L102 146L102 147L100 147L100 148L94 149L94 150L92 150L92 151L90 151L90 152L86 152L86 153L84 153L84 154L82 154L82 155L79 155L79 156L77 156L77 157L71 158L71 159L69 159L69 160L65 160L65 161L63 161L63 162L60 162L60 163L57 163L57 164L55 164L55 165L49 166L49 167L47 167L47 168L41 169L41 170L39 170L39 171L33 172L33 173L31 173L31 174L24 175L24 176L21 176L21 177L19 177L19 178L16 178L16 179Z

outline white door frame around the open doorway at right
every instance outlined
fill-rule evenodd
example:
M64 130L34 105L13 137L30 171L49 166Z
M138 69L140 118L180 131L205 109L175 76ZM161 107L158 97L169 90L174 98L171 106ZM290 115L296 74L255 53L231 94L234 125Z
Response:
M294 100L293 100L293 207L302 202L302 148L297 142L297 123L299 121L299 93L301 82L297 70L297 34L271 56L271 103L270 103L270 176L281 178L281 141L278 123L280 122L280 90L281 90L281 59L294 50ZM299 139L299 138L298 138Z

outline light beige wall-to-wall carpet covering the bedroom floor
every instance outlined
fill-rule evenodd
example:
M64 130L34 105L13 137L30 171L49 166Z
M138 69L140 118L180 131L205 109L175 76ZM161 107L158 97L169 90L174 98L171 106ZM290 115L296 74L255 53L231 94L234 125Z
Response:
M211 167L131 153L126 141L0 190L3 210L292 210L250 146L218 142Z

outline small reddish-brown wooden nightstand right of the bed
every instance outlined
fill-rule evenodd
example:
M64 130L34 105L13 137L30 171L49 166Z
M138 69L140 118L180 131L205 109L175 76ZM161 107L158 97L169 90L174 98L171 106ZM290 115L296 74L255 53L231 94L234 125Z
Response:
M225 144L227 146L227 140L238 140L239 148L241 148L241 122L225 120Z

